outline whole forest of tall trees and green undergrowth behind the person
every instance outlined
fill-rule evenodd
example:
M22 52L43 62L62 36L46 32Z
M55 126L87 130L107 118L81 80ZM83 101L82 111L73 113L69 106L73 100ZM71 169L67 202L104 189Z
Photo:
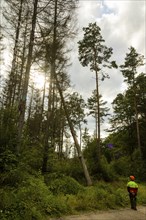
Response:
M130 175L136 176L140 187L138 203L146 204L145 57L129 45L118 66L98 24L83 27L78 59L96 81L85 101L71 89L68 73L77 7L75 0L3 0L1 4L2 220L47 220L126 207ZM7 50L10 58L4 66ZM109 69L119 69L127 85L112 101L112 114L99 86L110 80ZM39 75L44 77L41 89L35 83ZM95 122L93 135L89 115ZM107 117L110 129L102 138L101 125Z

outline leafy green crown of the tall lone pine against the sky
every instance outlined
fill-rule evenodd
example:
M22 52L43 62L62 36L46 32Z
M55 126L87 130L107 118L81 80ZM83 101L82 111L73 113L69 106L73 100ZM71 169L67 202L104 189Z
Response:
M115 61L109 61L113 51L104 45L101 29L96 23L89 23L88 27L83 28L84 37L79 41L79 61L83 66L90 66L91 71L100 71L101 67L117 68ZM95 63L96 60L96 63ZM103 79L108 77L102 75Z

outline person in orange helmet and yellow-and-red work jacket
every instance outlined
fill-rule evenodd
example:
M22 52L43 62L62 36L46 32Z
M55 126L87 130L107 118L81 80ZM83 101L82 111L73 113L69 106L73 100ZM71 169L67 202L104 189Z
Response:
M135 182L135 176L130 176L130 181L127 183L127 190L129 192L131 209L137 210L136 196L137 196L137 192L138 192L138 185Z

